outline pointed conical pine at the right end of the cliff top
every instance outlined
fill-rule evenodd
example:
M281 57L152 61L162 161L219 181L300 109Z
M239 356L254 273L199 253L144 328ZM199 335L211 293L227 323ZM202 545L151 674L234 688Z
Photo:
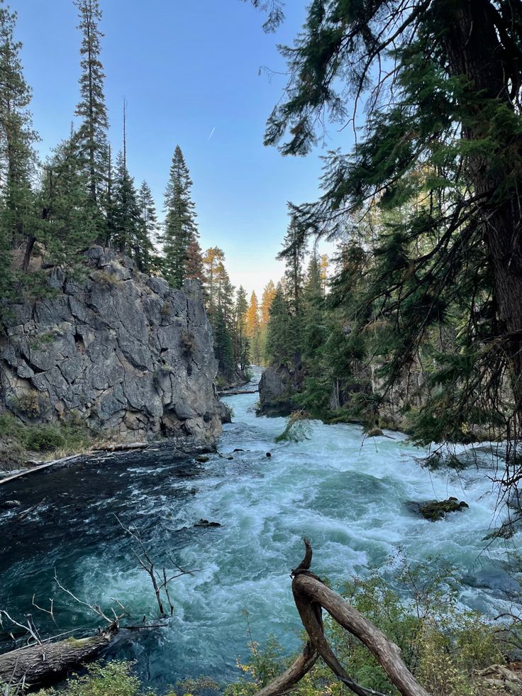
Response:
M163 272L172 287L180 288L186 275L187 254L197 241L196 210L191 199L192 180L179 145L176 145L165 191Z

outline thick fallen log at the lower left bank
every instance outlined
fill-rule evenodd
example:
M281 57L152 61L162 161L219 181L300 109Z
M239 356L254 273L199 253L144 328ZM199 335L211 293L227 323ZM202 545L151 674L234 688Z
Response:
M34 687L51 683L96 657L117 631L116 626L109 626L95 636L44 642L4 653L0 655L0 685Z

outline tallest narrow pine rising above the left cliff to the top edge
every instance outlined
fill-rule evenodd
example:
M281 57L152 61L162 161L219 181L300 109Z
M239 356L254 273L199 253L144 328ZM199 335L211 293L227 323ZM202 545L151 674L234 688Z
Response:
M104 242L106 224L101 212L101 201L106 177L109 119L104 96L105 74L100 60L103 36L99 30L101 10L98 0L74 0L74 5L79 14L78 28L82 31L82 74L79 78L80 101L76 115L82 118L79 138L82 142L84 166L88 172L90 204L94 209L99 241Z

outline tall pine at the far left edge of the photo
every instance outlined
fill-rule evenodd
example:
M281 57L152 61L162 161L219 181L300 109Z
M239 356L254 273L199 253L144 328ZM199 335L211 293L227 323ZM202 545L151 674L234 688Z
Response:
M31 178L35 170L33 131L28 106L31 91L23 77L21 43L14 39L16 14L0 6L0 194L2 245L26 242L24 269L33 249L35 209ZM6 269L9 263L6 263ZM7 272L7 270L6 270Z

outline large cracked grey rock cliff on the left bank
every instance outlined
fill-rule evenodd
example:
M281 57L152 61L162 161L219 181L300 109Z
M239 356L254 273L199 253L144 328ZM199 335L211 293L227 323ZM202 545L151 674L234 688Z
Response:
M174 290L95 247L88 275L53 270L56 297L13 307L0 346L0 410L26 422L81 418L121 441L213 441L221 409L201 289Z

